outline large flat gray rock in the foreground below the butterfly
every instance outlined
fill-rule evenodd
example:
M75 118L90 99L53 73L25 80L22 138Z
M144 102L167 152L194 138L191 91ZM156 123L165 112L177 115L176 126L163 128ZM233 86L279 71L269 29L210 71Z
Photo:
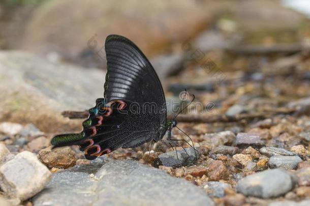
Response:
M214 205L199 187L137 161L100 167L80 165L54 173L33 198L34 205Z

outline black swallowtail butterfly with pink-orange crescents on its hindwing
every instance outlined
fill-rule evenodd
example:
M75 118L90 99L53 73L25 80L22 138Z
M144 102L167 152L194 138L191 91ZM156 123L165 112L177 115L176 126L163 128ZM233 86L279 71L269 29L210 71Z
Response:
M185 108L167 121L162 84L140 49L125 37L109 35L105 50L104 98L97 99L96 106L88 110L89 117L83 122L81 133L54 136L53 148L79 145L85 158L93 160L118 148L135 148L146 142L151 145L157 141L166 142L173 149L172 144L185 141L194 149L197 158L199 153L192 139L176 126L175 117ZM187 135L193 145L184 139L172 139L173 127ZM168 137L163 140L167 131Z

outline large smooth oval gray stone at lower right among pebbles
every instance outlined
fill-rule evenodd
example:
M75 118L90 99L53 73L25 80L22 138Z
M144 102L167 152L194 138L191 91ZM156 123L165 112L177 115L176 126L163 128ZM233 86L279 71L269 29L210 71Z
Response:
M284 169L257 172L238 181L236 190L247 196L278 197L293 188L291 175Z

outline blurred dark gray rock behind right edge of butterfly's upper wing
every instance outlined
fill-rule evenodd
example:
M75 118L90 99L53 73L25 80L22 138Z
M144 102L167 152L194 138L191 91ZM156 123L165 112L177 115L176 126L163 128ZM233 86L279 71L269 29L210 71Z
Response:
M179 72L184 64L184 53L174 53L157 56L151 59L151 64L156 70L160 79Z

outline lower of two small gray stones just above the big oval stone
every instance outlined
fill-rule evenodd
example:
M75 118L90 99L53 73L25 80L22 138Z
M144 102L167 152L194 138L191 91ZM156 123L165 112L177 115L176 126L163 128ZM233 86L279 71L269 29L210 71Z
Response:
M299 162L302 162L302 159L298 156L276 155L269 158L268 165L270 168L295 169Z

